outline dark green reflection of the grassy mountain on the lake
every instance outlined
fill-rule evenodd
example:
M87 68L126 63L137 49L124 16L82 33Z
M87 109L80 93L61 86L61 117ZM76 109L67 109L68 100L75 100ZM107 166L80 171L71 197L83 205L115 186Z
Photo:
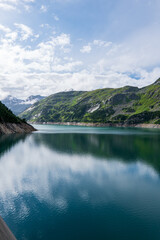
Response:
M37 144L68 154L123 162L143 161L160 172L160 134L35 134Z

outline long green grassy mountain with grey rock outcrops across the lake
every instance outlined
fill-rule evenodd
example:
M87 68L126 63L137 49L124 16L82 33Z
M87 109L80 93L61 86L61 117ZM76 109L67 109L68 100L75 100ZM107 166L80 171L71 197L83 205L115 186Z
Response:
M33 104L20 116L31 122L160 124L160 79L143 88L56 93Z

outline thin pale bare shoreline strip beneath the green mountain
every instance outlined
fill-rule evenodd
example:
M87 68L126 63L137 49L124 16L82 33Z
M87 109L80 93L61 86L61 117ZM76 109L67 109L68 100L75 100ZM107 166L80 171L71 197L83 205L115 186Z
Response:
M81 123L81 122L35 122L35 123L29 122L29 124L83 126L83 127L123 127L123 128L160 129L160 124L152 124L152 123L120 124L120 123Z

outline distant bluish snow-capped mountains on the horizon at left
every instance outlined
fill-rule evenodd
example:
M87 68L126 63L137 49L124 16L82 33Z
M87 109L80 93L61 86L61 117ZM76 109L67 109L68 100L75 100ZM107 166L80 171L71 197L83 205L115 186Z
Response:
M30 96L26 100L18 99L8 95L5 99L2 100L2 103L5 104L12 112L16 115L24 112L27 108L29 108L35 102L43 99L44 97L40 95Z

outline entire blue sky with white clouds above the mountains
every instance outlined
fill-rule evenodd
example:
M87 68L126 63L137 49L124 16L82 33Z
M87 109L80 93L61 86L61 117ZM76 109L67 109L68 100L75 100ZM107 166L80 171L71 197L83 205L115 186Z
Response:
M0 0L0 99L160 77L159 0Z

